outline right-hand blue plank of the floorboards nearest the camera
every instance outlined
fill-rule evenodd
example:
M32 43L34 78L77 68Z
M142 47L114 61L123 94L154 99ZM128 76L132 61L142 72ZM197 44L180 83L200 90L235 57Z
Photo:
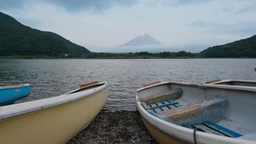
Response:
M242 135L240 134L237 134L235 131L232 131L232 130L229 130L227 128L224 128L216 123L213 123L213 122L210 122L210 121L206 121L206 122L203 122L204 125L206 125L207 127L213 129L213 130L216 130L218 131L219 133L222 133L226 136L230 136L230 137L240 137Z

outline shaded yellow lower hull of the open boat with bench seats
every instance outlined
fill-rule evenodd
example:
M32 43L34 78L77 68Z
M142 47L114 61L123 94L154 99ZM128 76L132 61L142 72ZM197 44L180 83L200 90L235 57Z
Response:
M158 142L158 143L187 143L184 142L182 140L179 140L171 135L168 135L164 132L162 132L161 130L155 128L152 124L150 124L149 122L146 121L146 119L141 115L142 121L144 123L144 125L146 126L146 128L148 129L149 133L154 137L154 139Z

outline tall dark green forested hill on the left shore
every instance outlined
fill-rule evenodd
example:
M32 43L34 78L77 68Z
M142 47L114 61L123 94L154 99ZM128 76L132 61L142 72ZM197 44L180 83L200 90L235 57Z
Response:
M39 31L22 25L13 17L0 12L0 56L85 57L90 53L53 32Z

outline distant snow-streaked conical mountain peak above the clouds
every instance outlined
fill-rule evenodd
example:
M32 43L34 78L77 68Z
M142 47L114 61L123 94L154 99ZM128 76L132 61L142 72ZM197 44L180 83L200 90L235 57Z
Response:
M158 40L151 37L149 34L138 35L138 37L119 46L143 46L143 45L162 45Z

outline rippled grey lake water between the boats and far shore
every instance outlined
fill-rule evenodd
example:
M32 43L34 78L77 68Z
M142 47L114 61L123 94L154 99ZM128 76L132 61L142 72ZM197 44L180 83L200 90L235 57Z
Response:
M55 97L92 81L108 81L104 109L135 110L135 91L155 81L203 83L256 79L256 59L22 59L0 60L0 85L31 84L16 103Z

